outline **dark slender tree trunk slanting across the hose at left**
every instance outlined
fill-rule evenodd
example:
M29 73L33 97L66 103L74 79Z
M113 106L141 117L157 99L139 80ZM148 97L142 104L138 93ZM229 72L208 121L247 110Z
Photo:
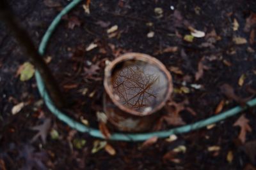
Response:
M52 102L54 102L58 108L63 108L65 106L64 99L51 70L45 63L44 59L39 55L31 38L29 38L28 32L22 29L22 27L15 22L12 10L10 6L8 6L8 3L6 3L6 0L0 0L0 19L3 20L8 28L13 32L13 35L19 42L20 46L24 48L24 52L28 55L29 60L41 74Z

